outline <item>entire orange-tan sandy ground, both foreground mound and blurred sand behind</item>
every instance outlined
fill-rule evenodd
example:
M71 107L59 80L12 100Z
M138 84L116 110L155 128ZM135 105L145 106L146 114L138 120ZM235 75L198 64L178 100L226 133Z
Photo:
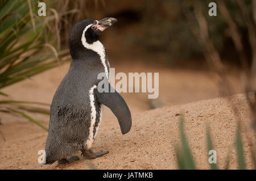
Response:
M111 62L110 62L111 63ZM159 72L159 99L148 102L147 93L123 93L130 107L133 126L121 134L117 119L105 107L100 131L93 150L108 150L109 154L92 161L76 161L66 165L38 163L38 150L43 150L47 132L23 117L1 113L0 169L177 169L175 146L179 141L179 113L185 114L185 129L198 169L209 169L205 126L210 125L217 162L220 168L228 155L230 169L237 168L234 138L236 120L225 98L217 98L213 78L204 71L170 70L150 65L112 64L116 72ZM65 64L48 70L26 81L3 89L9 99L33 100L51 103L52 96L69 68ZM239 78L230 75L235 93L242 92ZM247 168L250 162L249 138L255 143L250 127L250 112L242 94L234 95L232 102L240 107L242 139ZM152 107L162 107L150 110ZM33 115L48 127L48 116Z

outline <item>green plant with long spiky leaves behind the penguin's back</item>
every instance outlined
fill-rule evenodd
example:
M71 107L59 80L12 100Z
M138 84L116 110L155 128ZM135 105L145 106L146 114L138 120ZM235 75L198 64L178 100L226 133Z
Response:
M51 3L47 5L51 6ZM0 1L0 89L67 60L65 57L68 56L68 50L57 51L54 48L58 36L55 35L57 31L52 28L56 26L52 24L56 24L57 19L54 15L38 16L38 9L36 0ZM8 96L2 91L0 95ZM28 107L27 104L34 106ZM1 100L0 111L18 113L46 129L23 112L49 114L48 109L38 105L36 102Z

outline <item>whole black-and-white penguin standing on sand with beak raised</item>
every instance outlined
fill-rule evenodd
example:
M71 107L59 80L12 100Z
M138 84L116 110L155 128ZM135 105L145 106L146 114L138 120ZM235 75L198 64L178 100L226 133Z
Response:
M46 164L59 164L81 158L94 159L109 151L92 151L92 145L101 124L103 105L117 117L122 134L131 129L131 113L125 100L113 87L98 91L104 73L109 78L110 65L104 45L100 42L102 31L117 22L115 18L86 19L75 24L68 36L72 61L53 96L50 107L49 131L46 140ZM114 91L110 91L113 89ZM73 156L72 156L73 155Z

